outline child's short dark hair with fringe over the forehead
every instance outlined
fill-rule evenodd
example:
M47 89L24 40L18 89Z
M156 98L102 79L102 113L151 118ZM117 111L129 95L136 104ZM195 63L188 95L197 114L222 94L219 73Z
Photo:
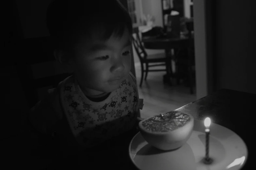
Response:
M121 37L126 28L132 35L130 15L118 0L54 0L46 21L56 48L62 50L71 49L81 35L107 40L112 34Z

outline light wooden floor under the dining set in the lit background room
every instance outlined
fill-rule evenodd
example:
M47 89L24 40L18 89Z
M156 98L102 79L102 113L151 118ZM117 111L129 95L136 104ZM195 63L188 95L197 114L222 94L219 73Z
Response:
M159 66L159 68L164 66ZM183 84L169 86L163 83L165 72L149 72L147 81L139 87L141 78L140 64L135 64L139 98L144 99L143 109L140 110L142 118L175 110L196 100L196 94L190 94L189 87Z

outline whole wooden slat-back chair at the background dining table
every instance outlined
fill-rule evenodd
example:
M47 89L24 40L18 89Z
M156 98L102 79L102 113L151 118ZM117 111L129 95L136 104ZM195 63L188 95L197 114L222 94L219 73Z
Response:
M152 70L149 69L150 67L166 65L168 58L166 57L165 53L148 55L147 52L145 51L143 43L140 39L138 29L136 29L136 31L134 31L133 44L134 44L136 53L139 57L140 65L141 65L141 79L140 79L140 84L139 84L140 87L143 82L144 72L146 73L145 78L144 78L145 81L147 79L148 72L153 72L153 71L166 71L167 72L166 68L165 69L152 69ZM160 63L160 64L152 64L152 63ZM146 65L146 68L144 68L144 64Z

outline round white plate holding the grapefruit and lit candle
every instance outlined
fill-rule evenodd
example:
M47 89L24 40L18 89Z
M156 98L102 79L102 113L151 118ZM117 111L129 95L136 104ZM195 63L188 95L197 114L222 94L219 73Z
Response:
M141 170L238 170L247 160L247 147L233 131L211 123L209 155L213 163L203 163L205 156L205 127L195 120L188 141L179 149L162 151L148 144L137 133L129 146L130 158Z

